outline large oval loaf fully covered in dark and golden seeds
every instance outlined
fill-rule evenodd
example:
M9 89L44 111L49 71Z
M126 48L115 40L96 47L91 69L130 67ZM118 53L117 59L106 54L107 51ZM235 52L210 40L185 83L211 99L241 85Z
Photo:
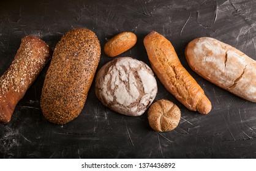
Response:
M94 32L72 29L62 36L43 82L40 105L48 121L62 125L80 114L99 60Z

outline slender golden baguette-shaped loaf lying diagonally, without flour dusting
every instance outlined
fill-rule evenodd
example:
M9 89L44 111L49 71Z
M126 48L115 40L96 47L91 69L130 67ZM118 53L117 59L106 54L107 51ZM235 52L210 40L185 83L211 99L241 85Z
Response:
M187 109L208 114L211 111L211 102L197 81L183 67L171 43L164 36L152 31L144 38L144 45L152 70L168 92Z

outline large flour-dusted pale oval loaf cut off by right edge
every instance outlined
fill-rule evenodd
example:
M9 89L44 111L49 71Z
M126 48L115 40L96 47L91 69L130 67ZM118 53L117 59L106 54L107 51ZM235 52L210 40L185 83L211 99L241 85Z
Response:
M214 38L189 42L185 51L189 66L222 89L256 102L256 61Z

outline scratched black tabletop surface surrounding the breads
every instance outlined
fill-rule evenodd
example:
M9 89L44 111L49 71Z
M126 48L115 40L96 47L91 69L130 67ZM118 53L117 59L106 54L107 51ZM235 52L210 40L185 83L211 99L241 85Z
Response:
M256 104L201 78L184 56L190 40L207 36L256 59L255 25L256 2L249 0L1 1L0 75L25 35L36 35L54 49L64 32L75 27L94 31L102 47L119 32L134 32L137 45L119 56L149 65L143 38L155 30L173 43L181 63L205 90L213 109L208 115L188 111L157 79L156 100L176 103L181 121L173 131L156 133L146 113L127 117L104 107L92 85L78 118L66 125L53 125L40 110L47 65L18 103L11 122L0 125L0 158L256 158ZM102 52L99 68L111 59Z

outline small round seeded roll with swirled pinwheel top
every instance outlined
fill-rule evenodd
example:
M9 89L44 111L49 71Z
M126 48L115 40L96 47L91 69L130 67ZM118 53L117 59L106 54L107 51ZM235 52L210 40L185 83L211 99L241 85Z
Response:
M175 129L181 119L181 111L169 100L158 100L148 110L148 122L152 129L166 132Z

